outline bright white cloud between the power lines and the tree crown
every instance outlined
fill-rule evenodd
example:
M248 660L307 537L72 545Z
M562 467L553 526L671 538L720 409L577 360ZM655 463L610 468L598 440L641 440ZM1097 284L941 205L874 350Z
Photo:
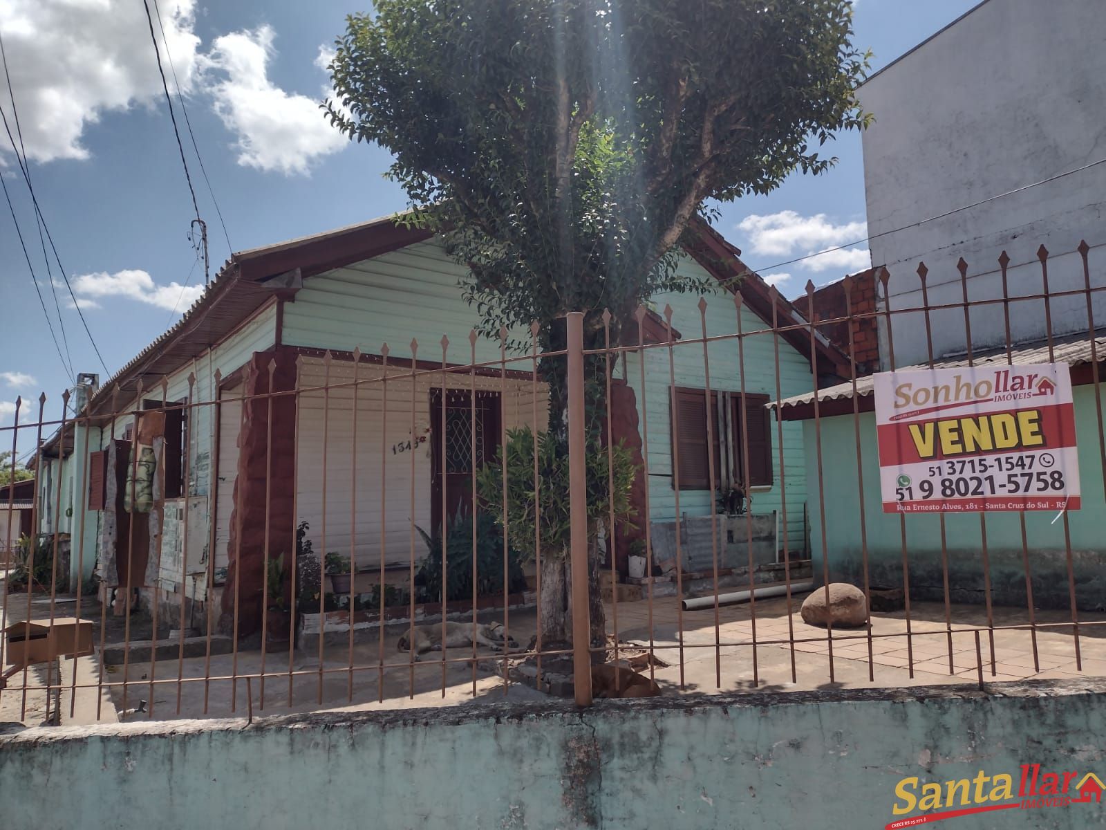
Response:
M215 111L238 136L238 163L285 175L306 174L313 162L348 144L331 126L319 100L288 93L269 80L275 33L269 25L215 39L202 59ZM320 49L315 63L323 60Z

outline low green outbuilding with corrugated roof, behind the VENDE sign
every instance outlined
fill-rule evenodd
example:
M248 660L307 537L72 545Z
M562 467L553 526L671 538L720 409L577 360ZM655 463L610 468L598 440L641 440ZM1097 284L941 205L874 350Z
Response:
M1068 363L1075 402L1075 434L1078 438L1079 480L1083 508L1068 516L1070 539L1065 525L1055 511L1025 512L1025 544L1033 579L1033 600L1039 608L1065 609L1068 599L1067 552L1073 556L1073 577L1079 608L1106 609L1106 536L1103 535L1104 475L1096 386L1091 362L1091 342L1079 334L1057 338L1053 343L1057 363ZM1106 338L1096 340L1098 375L1106 377ZM1005 349L975 352L975 365L1006 363ZM1047 363L1044 342L1016 345L1013 363ZM922 364L928 365L928 364ZM938 361L938 369L967 366L964 357ZM919 369L922 366L914 366ZM902 366L901 369L910 369ZM818 391L818 421L814 419L814 394L806 392L780 402L784 422L801 423L806 452L811 538L821 540L824 532L831 578L863 584L860 501L864 502L863 530L873 585L902 584L902 536L899 515L883 512L879 489L876 421L872 377L857 381L854 416L852 383ZM1099 395L1102 393L1099 392ZM863 459L863 494L857 475L856 427L859 424L859 452ZM818 507L816 438L821 435L824 471L822 489L826 509L823 522ZM910 568L910 595L941 600L941 526L937 513L910 513L905 517L906 547ZM978 513L946 513L945 539L948 553L949 585L953 602L983 601L982 538ZM1023 606L1026 600L1022 526L1016 512L987 515L987 543L991 563L991 592L997 605ZM813 546L815 562L822 558L821 542Z

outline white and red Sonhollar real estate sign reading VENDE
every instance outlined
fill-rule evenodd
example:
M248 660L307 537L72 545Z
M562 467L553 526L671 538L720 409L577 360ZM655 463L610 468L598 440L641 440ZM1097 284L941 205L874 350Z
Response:
M874 376L884 512L1076 510L1066 363Z

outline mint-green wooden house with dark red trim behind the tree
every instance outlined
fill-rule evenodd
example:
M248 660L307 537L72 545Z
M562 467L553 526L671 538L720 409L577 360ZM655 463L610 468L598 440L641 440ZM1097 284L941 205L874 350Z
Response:
M794 308L749 273L737 250L706 225L697 239L680 268L721 282L745 276L738 289L744 331L770 324L773 301L781 325L802 324ZM534 388L529 359L503 369L495 365L498 342L478 339L470 346L478 317L458 288L462 274L439 240L392 218L233 255L177 324L92 390L80 407L82 426L70 424L45 445L49 463L40 477L62 483L64 521L53 525L53 517L44 517L43 529L76 537L73 568L80 561L87 573L98 559L107 585L129 580L144 587L144 594L156 585L166 604L192 605L208 601L210 580L210 600L219 603L222 615L234 608L237 593L242 634L258 624L265 559L290 556L301 521L309 522L317 553L352 550L358 568L375 570L383 560L386 567L404 568L406 579L411 556L425 554L422 541L413 541L411 522L430 530L440 525L444 496L449 515L470 498L470 434L477 434L479 464L494 453L502 426L544 428L546 422L547 393L543 385ZM708 299L708 334L733 334L732 294L719 290ZM686 338L701 336L697 295L655 301L657 308L674 305L674 322ZM636 326L627 330L636 342ZM449 340L445 354L442 334ZM646 342L658 338L667 339L667 332L650 313ZM803 551L807 488L802 430L784 427L787 460L781 469L774 425L764 408L778 396L776 350L780 394L794 395L813 384L808 331L791 328L779 338L745 340L745 423L754 456L750 489L754 510L770 513L781 506L785 479L790 547ZM707 452L702 345L674 352L678 395L699 392L699 408L689 401L685 423L701 422L698 448L695 430L677 436L685 471L679 516L671 484L667 347L647 352L645 394L636 353L620 361L615 381L616 436L640 445L637 424L648 418L654 522L707 515L714 505L698 475ZM814 354L820 374L844 371L846 361L824 338L815 340ZM488 365L471 374L430 371L414 387L403 376L413 365L441 370L444 361ZM733 416L733 400L741 392L739 365L735 340L710 345L714 401L730 407L720 411L716 452L724 450L734 465L734 450L745 444L734 439L741 423ZM385 371L392 380L372 380ZM361 382L356 387L355 380ZM476 424L470 421L473 386ZM439 457L442 430L445 463ZM128 466L137 468L131 459L133 442L160 459L149 515L131 513L125 505ZM721 466L718 475L721 480ZM639 496L645 486L643 476ZM58 496L50 490L43 499ZM624 556L619 553L619 564Z

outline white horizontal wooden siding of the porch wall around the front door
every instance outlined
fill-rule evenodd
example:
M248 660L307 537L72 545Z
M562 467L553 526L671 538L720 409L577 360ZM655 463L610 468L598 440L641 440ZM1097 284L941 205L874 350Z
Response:
M304 357L300 363L299 387L331 385L353 380L354 364L331 362L326 376L320 359ZM359 381L383 377L378 365L361 364ZM409 374L406 369L388 369L388 375ZM469 375L452 375L447 388L469 390ZM348 557L351 544L357 567L380 561L380 494L385 495L384 561L409 562L411 520L430 531L431 455L430 391L440 388L441 375L421 375L415 382L414 427L411 421L411 380L373 381L357 386L354 444L353 386L303 392L299 395L296 428L296 523L306 520L314 550L319 554L337 551ZM387 411L384 393L387 390ZM499 377L477 376L477 390L499 391ZM503 394L504 422L508 428L536 424L544 428L547 395L539 384L534 407L533 385L529 381L507 380ZM386 417L385 417L386 415ZM325 452L324 452L325 429ZM406 449L411 443L413 452ZM383 446L383 455L382 455ZM323 477L325 459L326 475ZM414 461L414 470L413 470ZM383 464L382 464L383 463ZM414 474L415 500L411 502ZM382 484L383 483L383 484ZM323 495L325 485L326 523L323 540ZM422 538L415 533L415 559L426 553Z

